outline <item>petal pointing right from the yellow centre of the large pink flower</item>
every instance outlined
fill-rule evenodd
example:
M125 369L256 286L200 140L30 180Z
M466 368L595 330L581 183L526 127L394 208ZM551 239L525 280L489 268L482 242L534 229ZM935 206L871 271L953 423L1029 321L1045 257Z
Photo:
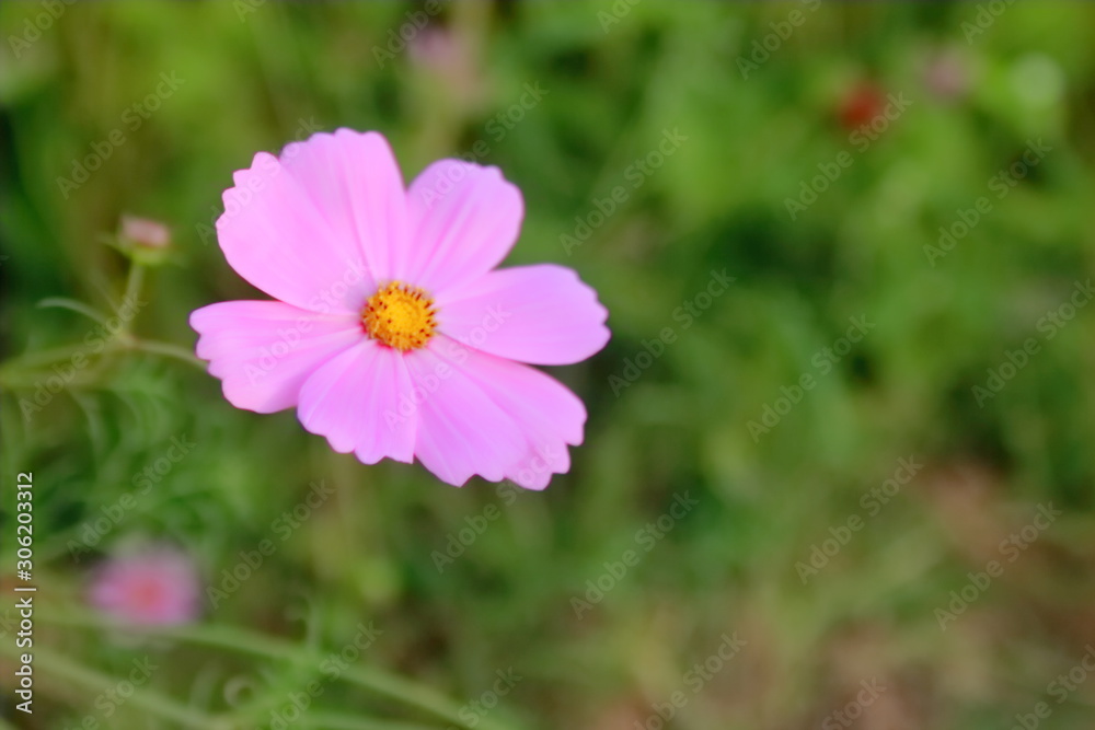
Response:
M597 292L552 264L489 271L442 292L437 308L446 335L532 364L580 362L609 341Z

